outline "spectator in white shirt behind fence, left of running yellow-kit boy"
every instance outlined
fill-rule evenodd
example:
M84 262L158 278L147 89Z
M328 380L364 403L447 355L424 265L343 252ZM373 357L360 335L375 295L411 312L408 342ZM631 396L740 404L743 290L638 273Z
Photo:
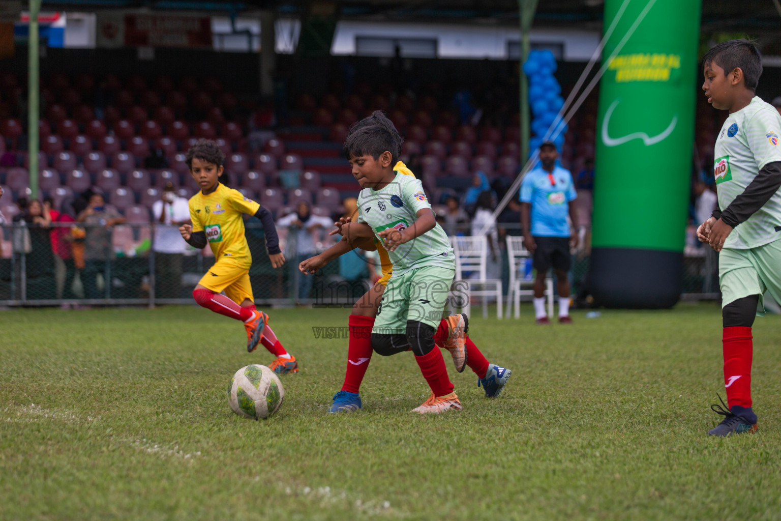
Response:
M170 181L162 189L162 198L152 204L155 219L155 297L180 298L182 291L182 261L187 242L179 227L190 222L187 199L179 197Z

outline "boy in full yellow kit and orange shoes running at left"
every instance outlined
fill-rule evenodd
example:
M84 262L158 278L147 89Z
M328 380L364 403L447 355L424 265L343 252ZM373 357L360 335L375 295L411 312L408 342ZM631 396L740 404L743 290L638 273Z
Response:
M198 140L187 151L187 167L201 191L190 199L192 226L185 224L179 231L194 248L212 248L216 262L193 291L195 302L220 315L244 322L247 330L247 351L255 351L262 343L276 359L269 365L275 373L298 373L298 362L280 344L268 326L269 316L255 309L255 298L249 280L252 264L247 239L244 237L242 214L255 216L263 223L266 246L274 268L285 262L276 237L271 213L240 191L218 181L223 173L225 155L214 141ZM221 294L221 292L225 294Z

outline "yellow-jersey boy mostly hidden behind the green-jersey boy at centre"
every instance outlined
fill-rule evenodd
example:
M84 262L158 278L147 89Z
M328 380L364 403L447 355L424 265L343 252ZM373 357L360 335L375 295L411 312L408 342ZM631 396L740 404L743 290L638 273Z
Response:
M396 133L392 123L387 120L381 112L375 112L373 116L369 116L369 118L357 123L351 129L351 132L364 126L370 128L376 127L375 130L379 134L384 134L386 137L390 136L391 140L387 145L395 151L395 157L398 157L401 148L401 138L398 138L398 133ZM398 139L398 141L394 142L394 136L397 137L396 139ZM379 150L379 148L377 148L377 150ZM348 152L347 144L345 145L345 152ZM399 174L413 178L415 177L412 171L410 171L401 161L396 162L393 170ZM394 199L392 198L391 205L394 205ZM381 210L381 207L376 210ZM366 211L366 209L364 209L364 211ZM331 234L341 234L342 227L350 221L351 218L348 217L342 218L339 222L334 223L337 230L333 230ZM348 344L347 371L341 391L334 395L333 405L329 412L349 412L362 408L358 391L373 353L371 333L374 319L380 308L380 302L383 298L385 287L388 280L391 279L393 271L393 264L387 250L383 248L383 245L380 244L380 241L377 241L376 238L370 238L368 240L355 238L351 241L347 241L347 238L348 237L344 237L340 243L329 248L326 252L316 255L315 257L312 257L312 259L307 259L299 265L299 269L302 273L316 273L316 271L325 266L327 262L336 259L339 255L350 252L353 248L362 248L365 250L376 249L380 255L382 264L383 277L378 280L362 298L358 299L358 302L355 302L355 305L353 305L349 319L350 340ZM469 319L467 316L463 314L448 316L447 319L440 320L439 327L437 328L436 333L433 334L433 340L440 348L446 348L448 351L451 351L455 368L459 373L464 370L466 365L469 365L470 369L473 369L474 373L478 376L478 384L483 385L486 396L489 398L495 397L501 393L501 390L507 383L512 372L501 366L490 364L473 341L466 336L468 329ZM419 412L440 411L426 410Z

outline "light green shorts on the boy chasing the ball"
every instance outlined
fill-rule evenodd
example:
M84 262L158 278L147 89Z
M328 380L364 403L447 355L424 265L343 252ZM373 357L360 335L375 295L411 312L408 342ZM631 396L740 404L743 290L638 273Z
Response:
M393 274L377 309L372 333L406 334L407 320L439 327L455 269L423 266Z

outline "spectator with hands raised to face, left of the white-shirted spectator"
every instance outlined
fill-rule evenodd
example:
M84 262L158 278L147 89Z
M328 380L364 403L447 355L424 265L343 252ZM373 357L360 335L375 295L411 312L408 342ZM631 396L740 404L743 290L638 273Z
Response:
M87 208L79 214L76 220L87 225L84 237L84 271L81 273L84 298L101 298L102 295L98 293L97 277L98 273L105 275L107 267L109 268L109 280L104 280L103 283L106 289L111 287L110 273L113 271L112 260L114 258L111 229L116 224L124 223L125 218L119 215L116 210L106 208L103 194L96 192L90 195Z

